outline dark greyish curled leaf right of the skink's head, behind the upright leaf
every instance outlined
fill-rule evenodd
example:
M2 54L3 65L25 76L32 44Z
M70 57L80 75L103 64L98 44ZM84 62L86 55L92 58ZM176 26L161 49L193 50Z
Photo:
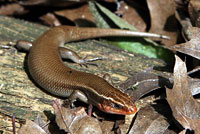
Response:
M189 78L188 81L188 86L192 95L200 94L200 80ZM135 102L145 94L156 89L165 87L172 88L173 78L159 76L151 72L139 72L121 83L119 87L120 89L128 89L124 91L127 92Z

